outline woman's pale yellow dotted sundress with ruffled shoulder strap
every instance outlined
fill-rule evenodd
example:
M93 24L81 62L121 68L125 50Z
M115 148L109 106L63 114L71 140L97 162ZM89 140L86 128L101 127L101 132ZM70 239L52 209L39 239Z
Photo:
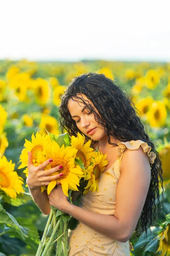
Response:
M131 140L117 144L117 159L107 171L101 174L99 192L92 193L89 191L83 195L79 207L96 213L114 215L116 188L120 177L119 167L126 148L135 150L141 146L143 151L147 152L150 163L154 163L156 154L142 140ZM68 243L71 247L69 256L130 256L130 250L133 249L129 240L122 243L116 239L110 239L82 222L79 222L74 230L69 230Z

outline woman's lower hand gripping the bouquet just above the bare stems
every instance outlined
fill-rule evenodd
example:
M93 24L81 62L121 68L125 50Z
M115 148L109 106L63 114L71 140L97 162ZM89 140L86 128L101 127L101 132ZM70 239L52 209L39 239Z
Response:
M67 212L67 209L71 203L68 202L68 197L63 193L62 187L52 189L48 195L49 203L51 206L59 209L62 212Z

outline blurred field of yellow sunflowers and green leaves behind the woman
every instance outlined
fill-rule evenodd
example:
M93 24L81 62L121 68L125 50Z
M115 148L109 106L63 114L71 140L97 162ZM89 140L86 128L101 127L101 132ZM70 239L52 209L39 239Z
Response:
M20 154L33 133L61 133L60 96L72 78L88 72L103 73L127 90L161 156L161 214L147 239L131 237L131 256L170 255L170 63L23 59L0 61L0 256L37 252L48 216L31 199Z

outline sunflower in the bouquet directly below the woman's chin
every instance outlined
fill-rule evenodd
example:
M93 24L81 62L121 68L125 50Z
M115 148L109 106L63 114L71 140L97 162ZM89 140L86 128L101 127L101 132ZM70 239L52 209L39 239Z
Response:
M85 169L90 165L91 157L94 154L94 148L90 148L91 140L85 143L85 136L77 133L77 137L71 136L71 148L77 148L76 158L81 160Z

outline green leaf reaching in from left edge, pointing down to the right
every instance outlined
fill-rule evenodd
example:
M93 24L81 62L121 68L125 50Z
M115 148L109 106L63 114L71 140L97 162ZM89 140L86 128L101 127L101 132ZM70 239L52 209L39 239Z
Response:
M16 230L22 239L25 240L26 237L28 237L28 228L20 226L14 216L12 216L9 212L6 212L2 205L0 205L0 223Z

